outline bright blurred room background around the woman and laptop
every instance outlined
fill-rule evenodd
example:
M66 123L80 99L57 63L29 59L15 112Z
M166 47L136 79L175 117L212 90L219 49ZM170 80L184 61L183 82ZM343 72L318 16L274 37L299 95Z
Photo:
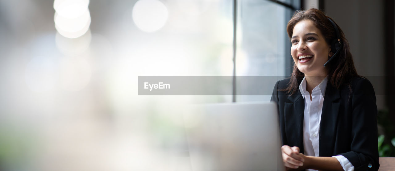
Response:
M0 170L191 170L184 105L270 95L139 96L138 76L289 76L286 24L313 7L375 80L394 155L391 0L0 0Z

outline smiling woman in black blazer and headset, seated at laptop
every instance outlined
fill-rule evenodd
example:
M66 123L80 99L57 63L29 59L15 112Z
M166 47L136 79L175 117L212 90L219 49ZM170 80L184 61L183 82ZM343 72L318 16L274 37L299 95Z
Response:
M318 9L297 11L288 22L295 64L271 99L279 111L283 162L297 170L378 170L376 96L332 22Z

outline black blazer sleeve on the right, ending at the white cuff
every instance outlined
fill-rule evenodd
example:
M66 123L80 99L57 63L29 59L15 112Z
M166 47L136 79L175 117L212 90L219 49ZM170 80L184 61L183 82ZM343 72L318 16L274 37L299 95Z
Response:
M378 170L377 106L372 84L360 79L351 95L351 151L342 153L357 170Z

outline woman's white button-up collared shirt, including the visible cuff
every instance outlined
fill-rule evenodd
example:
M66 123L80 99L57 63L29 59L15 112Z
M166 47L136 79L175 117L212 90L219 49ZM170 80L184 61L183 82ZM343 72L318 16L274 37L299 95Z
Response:
M322 106L324 105L324 97L328 78L325 77L321 83L314 87L310 93L306 90L306 77L303 78L299 85L302 97L305 99L305 113L303 116L303 153L307 156L318 156L319 152L319 133L321 124ZM354 171L354 166L342 155L335 157L345 171ZM313 169L307 169L314 171Z

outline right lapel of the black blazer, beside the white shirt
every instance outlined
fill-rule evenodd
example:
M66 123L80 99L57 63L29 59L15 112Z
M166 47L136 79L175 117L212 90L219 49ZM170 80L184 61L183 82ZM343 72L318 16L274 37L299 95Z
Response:
M332 149L335 143L337 117L340 107L340 92L328 83L325 90L324 105L322 106L319 150L320 156L332 156Z

